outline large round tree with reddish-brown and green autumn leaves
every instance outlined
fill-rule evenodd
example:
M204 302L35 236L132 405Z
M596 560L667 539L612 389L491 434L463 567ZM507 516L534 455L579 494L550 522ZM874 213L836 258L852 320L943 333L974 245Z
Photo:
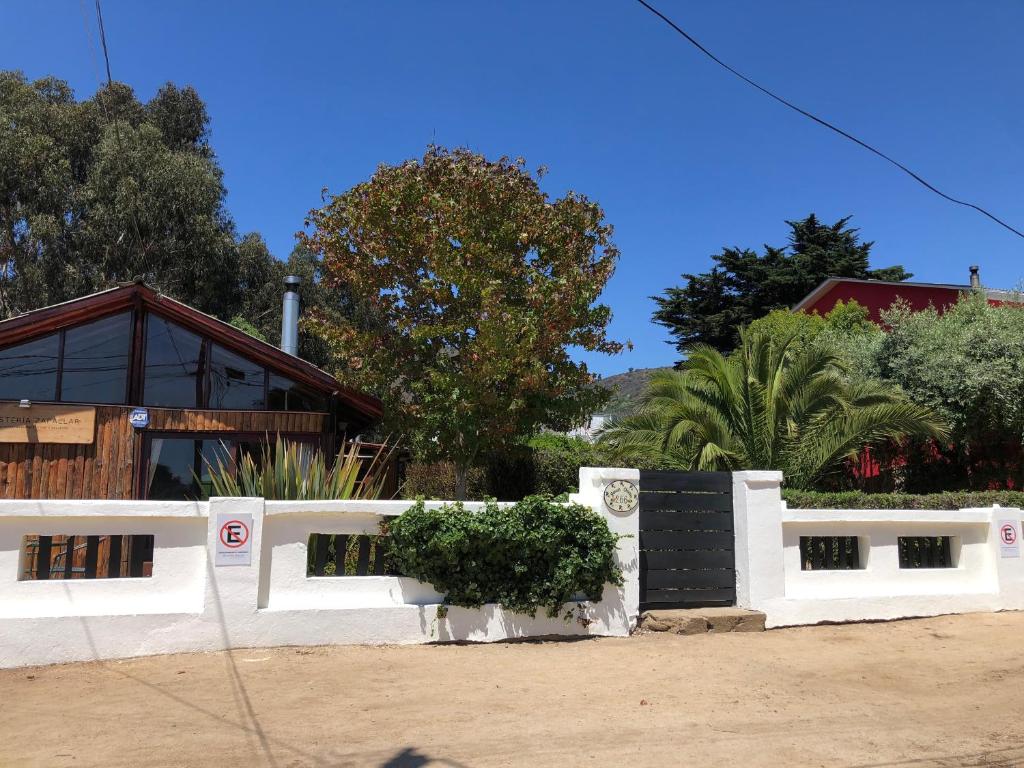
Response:
M597 299L618 251L601 208L551 200L522 160L431 146L312 211L305 247L345 285L354 319L313 318L339 378L386 406L386 426L457 467L606 400L568 348L615 353Z

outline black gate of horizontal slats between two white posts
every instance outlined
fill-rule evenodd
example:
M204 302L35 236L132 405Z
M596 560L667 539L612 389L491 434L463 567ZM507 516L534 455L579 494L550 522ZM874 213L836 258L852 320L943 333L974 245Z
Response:
M732 474L641 472L641 610L735 602Z

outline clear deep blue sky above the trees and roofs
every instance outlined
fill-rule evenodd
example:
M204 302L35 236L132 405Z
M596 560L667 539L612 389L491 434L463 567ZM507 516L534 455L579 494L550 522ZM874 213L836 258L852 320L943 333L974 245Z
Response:
M93 24L92 0L84 0ZM655 3L764 85L1024 227L1024 3ZM323 187L431 141L546 165L598 201L622 260L604 300L631 353L675 359L648 297L724 245L781 244L784 219L852 214L877 266L986 285L1024 276L1024 240L954 207L703 58L633 0L103 0L114 77L148 99L195 86L240 232L287 256ZM82 4L0 7L0 68L96 74Z

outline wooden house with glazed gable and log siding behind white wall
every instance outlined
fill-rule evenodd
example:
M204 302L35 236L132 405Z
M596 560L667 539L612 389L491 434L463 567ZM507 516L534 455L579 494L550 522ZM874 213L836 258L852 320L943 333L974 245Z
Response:
M142 284L0 323L0 499L203 498L204 459L279 434L333 452L380 416L376 398Z

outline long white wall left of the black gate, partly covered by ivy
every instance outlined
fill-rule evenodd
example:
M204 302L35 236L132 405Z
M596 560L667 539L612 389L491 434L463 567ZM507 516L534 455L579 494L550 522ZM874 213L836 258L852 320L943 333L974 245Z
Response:
M606 586L600 602L566 604L570 622L496 605L453 607L437 620L439 595L412 579L306 577L309 534L376 534L410 501L0 501L0 668L273 645L628 635L639 609L639 513L604 506L604 486L616 479L637 482L639 473L583 468L572 501L626 536L616 553L626 582ZM251 565L214 566L220 513L252 514ZM112 534L155 535L152 578L19 581L25 536Z

